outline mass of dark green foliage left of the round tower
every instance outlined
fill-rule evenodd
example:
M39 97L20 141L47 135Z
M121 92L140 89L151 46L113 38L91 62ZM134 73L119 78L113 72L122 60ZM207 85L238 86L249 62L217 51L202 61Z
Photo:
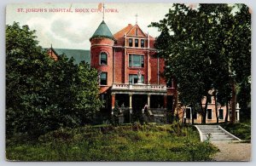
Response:
M52 60L28 26L6 26L7 135L42 135L60 127L92 123L102 105L97 74L61 55Z

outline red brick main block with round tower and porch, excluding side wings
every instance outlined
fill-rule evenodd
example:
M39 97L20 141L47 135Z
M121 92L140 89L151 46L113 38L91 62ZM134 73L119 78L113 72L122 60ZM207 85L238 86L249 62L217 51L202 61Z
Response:
M137 24L128 24L112 34L103 20L90 43L90 66L99 72L100 94L106 109L113 109L115 102L129 112L148 106L154 121L164 117L166 110L173 110L174 83L171 80L167 87L161 76L165 61L157 57L154 37Z

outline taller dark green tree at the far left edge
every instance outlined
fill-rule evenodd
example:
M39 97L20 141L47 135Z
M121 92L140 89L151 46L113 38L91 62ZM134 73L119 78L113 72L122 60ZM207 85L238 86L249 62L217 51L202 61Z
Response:
M48 130L44 117L44 87L50 78L46 72L52 63L38 46L35 31L19 23L6 26L6 124L7 134L15 132L40 133Z

